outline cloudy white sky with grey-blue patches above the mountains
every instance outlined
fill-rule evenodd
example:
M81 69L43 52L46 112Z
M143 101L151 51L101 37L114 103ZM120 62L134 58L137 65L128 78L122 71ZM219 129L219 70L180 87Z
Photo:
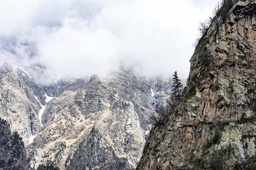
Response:
M141 74L189 75L200 21L218 0L0 0L0 64L40 64L84 77L124 64Z

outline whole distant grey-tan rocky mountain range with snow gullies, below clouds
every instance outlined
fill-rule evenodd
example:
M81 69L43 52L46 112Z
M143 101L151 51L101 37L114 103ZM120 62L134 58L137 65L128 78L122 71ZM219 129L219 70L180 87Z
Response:
M0 68L0 118L10 124L9 138L22 140L22 169L135 169L148 119L156 104L167 101L170 81L121 67L105 78L42 85L33 78L42 67L25 69L8 63ZM1 166L10 169L7 158Z

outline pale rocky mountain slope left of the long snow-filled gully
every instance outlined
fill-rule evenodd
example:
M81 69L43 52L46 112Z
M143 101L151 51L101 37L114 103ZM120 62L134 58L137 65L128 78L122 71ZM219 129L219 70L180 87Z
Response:
M18 77L12 66L5 63L0 68L0 117L17 131L25 145L29 137L39 131L38 112L41 106L33 90Z

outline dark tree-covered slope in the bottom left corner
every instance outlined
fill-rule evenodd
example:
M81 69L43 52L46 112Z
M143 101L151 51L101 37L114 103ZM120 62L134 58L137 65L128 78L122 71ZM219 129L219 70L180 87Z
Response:
M10 125L1 118L0 134L0 169L27 169L26 150L22 138L17 132L12 133Z

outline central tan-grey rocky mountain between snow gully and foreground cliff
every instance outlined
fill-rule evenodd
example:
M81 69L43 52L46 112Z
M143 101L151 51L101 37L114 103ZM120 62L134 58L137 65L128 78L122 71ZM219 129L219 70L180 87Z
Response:
M79 83L82 85L83 83ZM27 147L29 166L59 169L135 169L145 144L151 84L130 69L111 79L91 77L53 98L42 129Z

